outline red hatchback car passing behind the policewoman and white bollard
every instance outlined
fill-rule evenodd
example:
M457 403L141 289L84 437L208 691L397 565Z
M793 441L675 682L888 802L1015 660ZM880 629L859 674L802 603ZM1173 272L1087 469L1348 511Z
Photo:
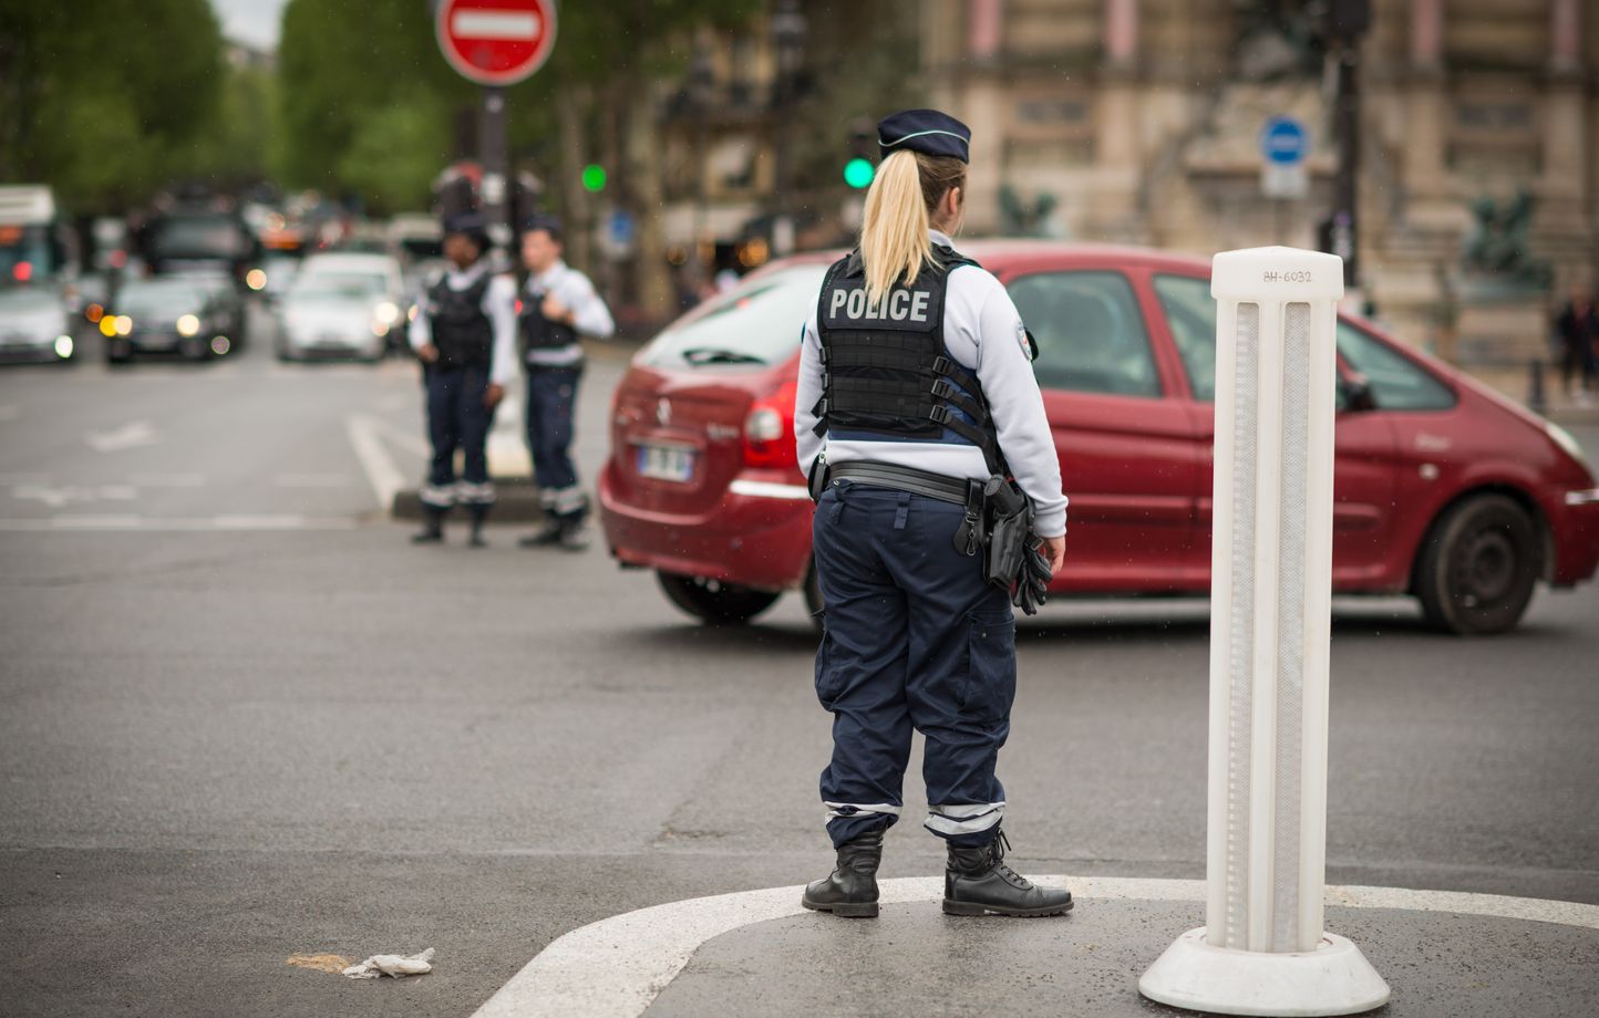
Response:
M1209 593L1209 264L1044 241L961 249L1004 281L1039 344L1071 499L1051 590ZM742 622L785 590L820 607L793 401L800 331L835 257L774 262L694 308L616 390L606 540L700 618ZM1358 318L1338 323L1338 593L1409 593L1444 630L1497 633L1540 577L1594 575L1599 487L1570 435Z

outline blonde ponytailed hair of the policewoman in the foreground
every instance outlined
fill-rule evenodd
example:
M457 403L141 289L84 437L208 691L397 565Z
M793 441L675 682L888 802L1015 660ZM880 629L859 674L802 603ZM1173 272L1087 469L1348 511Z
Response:
M883 160L860 221L868 300L881 300L900 281L913 284L923 265L932 264L932 209L951 187L964 185L966 163L948 155L902 149Z

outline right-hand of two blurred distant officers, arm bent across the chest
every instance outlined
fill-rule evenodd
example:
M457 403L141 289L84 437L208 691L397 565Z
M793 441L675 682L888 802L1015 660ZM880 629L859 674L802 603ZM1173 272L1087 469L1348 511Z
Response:
M587 545L588 499L572 463L572 414L584 372L580 336L606 339L616 331L611 310L588 276L561 260L561 221L534 216L521 232L528 284L518 329L528 369L528 451L544 505L544 529L521 539L528 548Z

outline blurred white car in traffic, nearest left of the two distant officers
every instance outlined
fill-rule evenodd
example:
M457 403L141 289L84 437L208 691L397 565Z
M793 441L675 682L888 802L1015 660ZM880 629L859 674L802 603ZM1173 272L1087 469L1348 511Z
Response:
M283 294L278 356L376 361L405 324L400 262L387 254L313 254Z

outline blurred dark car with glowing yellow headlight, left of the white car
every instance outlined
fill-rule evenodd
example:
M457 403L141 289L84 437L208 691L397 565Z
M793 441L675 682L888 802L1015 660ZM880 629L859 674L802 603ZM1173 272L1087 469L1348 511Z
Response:
M213 284L192 276L128 280L99 318L106 360L123 363L134 353L177 353L203 361L222 355L229 312Z

